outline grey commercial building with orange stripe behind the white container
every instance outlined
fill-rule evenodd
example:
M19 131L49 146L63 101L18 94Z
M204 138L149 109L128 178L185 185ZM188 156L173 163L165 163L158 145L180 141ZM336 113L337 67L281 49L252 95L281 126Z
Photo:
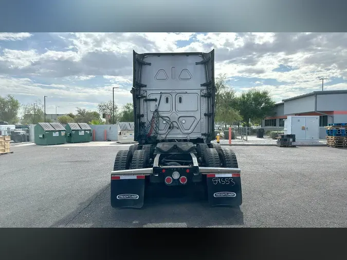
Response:
M282 100L276 104L276 115L265 118L266 131L282 130L287 116L319 116L319 137L325 138L330 123L347 123L347 90L313 91Z

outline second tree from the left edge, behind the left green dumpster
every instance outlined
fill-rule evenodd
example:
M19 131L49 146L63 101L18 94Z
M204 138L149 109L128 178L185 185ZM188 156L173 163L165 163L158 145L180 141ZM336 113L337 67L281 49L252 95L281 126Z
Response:
M45 115L43 110L43 105L41 100L36 100L35 103L29 103L22 106L24 111L24 116L22 118L22 124L37 124L44 122ZM46 122L51 120L46 119Z

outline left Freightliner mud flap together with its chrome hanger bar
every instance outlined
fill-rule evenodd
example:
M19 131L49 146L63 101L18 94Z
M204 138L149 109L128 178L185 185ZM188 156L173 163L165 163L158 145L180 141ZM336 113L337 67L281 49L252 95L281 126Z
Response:
M145 176L150 169L111 172L111 206L113 208L142 208Z

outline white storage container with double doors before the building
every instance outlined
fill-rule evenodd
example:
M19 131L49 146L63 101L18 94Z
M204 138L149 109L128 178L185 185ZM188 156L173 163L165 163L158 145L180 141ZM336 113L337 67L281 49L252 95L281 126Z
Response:
M319 141L319 116L288 116L284 134L295 135L296 142Z

